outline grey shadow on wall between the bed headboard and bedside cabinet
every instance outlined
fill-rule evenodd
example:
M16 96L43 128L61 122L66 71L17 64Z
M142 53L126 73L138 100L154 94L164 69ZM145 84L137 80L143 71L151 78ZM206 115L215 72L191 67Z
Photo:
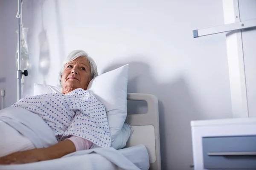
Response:
M158 83L149 65L144 62L123 62L112 65L104 72L127 63L129 63L128 93L147 93L158 98L163 170L189 169L189 165L193 163L190 121L202 119L202 114L190 93L185 77L181 75L169 83ZM136 102L132 105L128 103L128 114L140 111L145 113L145 108L145 102ZM167 161L171 167L167 167Z

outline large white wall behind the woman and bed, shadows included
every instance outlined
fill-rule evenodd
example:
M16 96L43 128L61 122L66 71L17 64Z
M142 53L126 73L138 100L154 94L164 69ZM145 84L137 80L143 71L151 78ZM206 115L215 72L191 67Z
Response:
M2 1L10 10L6 13L15 16L16 0ZM62 60L74 49L87 51L99 73L129 63L128 92L154 94L159 99L163 170L189 169L190 121L232 115L225 34L192 37L193 29L224 24L222 1L24 0L32 62L25 95L32 95L34 82L43 83L38 69L42 2L51 60L46 83L56 85ZM8 17L1 23L10 21L17 20ZM1 34L15 38L14 26L5 26ZM15 48L12 40L4 52L15 54ZM15 68L14 59L3 56L5 67ZM6 107L16 99L11 79L16 82L15 71L6 78Z

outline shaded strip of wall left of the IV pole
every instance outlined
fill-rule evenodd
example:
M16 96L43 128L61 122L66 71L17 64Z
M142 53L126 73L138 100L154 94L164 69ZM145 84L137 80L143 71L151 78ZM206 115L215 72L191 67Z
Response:
M0 0L0 89L6 91L4 107L17 101L15 51L17 0Z

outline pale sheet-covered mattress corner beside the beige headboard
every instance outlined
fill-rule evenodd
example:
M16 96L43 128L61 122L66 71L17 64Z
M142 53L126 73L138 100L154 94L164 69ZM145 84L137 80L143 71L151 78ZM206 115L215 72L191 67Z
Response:
M120 149L118 151L139 167L140 170L149 169L148 151L143 144Z

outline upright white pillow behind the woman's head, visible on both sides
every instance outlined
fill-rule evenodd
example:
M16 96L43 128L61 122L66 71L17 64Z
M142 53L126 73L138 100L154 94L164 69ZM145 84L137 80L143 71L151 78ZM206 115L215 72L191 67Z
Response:
M101 74L92 79L87 87L106 108L112 141L121 132L127 116L128 68L127 64ZM35 83L34 95L47 93L61 93L61 89Z

